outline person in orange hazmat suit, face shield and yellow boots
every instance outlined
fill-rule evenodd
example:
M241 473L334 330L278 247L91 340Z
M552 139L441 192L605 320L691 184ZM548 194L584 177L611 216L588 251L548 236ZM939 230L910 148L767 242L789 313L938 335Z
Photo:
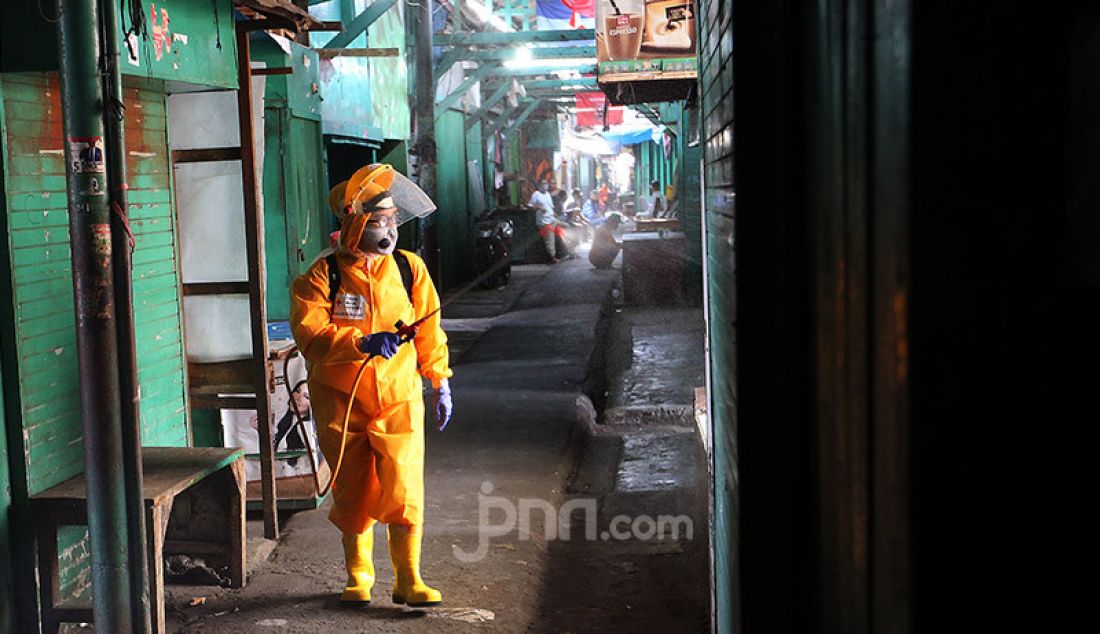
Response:
M388 165L358 171L330 194L341 219L334 253L318 258L292 287L290 327L309 368L309 390L321 450L339 461L344 413L351 407L343 462L333 473L329 520L342 533L348 583L340 599L369 603L374 584L373 527L388 527L395 571L393 600L433 605L442 598L420 578L424 527L424 396L432 386L439 429L451 417L447 336L439 296L422 260L395 251L397 225L419 215L402 205L414 188ZM393 192L392 192L393 190ZM408 195L405 196L409 198ZM415 196L414 196L415 198ZM338 203L341 203L339 204ZM420 325L411 346L394 332L400 320ZM352 383L362 363L355 394Z

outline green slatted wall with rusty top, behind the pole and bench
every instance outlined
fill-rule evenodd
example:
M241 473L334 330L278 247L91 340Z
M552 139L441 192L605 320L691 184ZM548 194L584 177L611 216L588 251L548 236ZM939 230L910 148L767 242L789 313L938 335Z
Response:
M142 437L148 446L184 446L188 418L163 83L127 78L124 100ZM13 496L25 500L84 469L57 75L0 76L0 112L7 209L0 260L10 288L0 298L0 334L6 397L12 400L9 451L22 457L12 464ZM82 528L61 535L63 592L87 590L85 535Z

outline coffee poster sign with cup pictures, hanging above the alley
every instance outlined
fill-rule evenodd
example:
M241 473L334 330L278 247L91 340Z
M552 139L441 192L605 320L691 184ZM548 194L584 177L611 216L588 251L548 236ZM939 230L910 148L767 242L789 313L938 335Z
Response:
M596 0L601 83L694 79L695 0Z

